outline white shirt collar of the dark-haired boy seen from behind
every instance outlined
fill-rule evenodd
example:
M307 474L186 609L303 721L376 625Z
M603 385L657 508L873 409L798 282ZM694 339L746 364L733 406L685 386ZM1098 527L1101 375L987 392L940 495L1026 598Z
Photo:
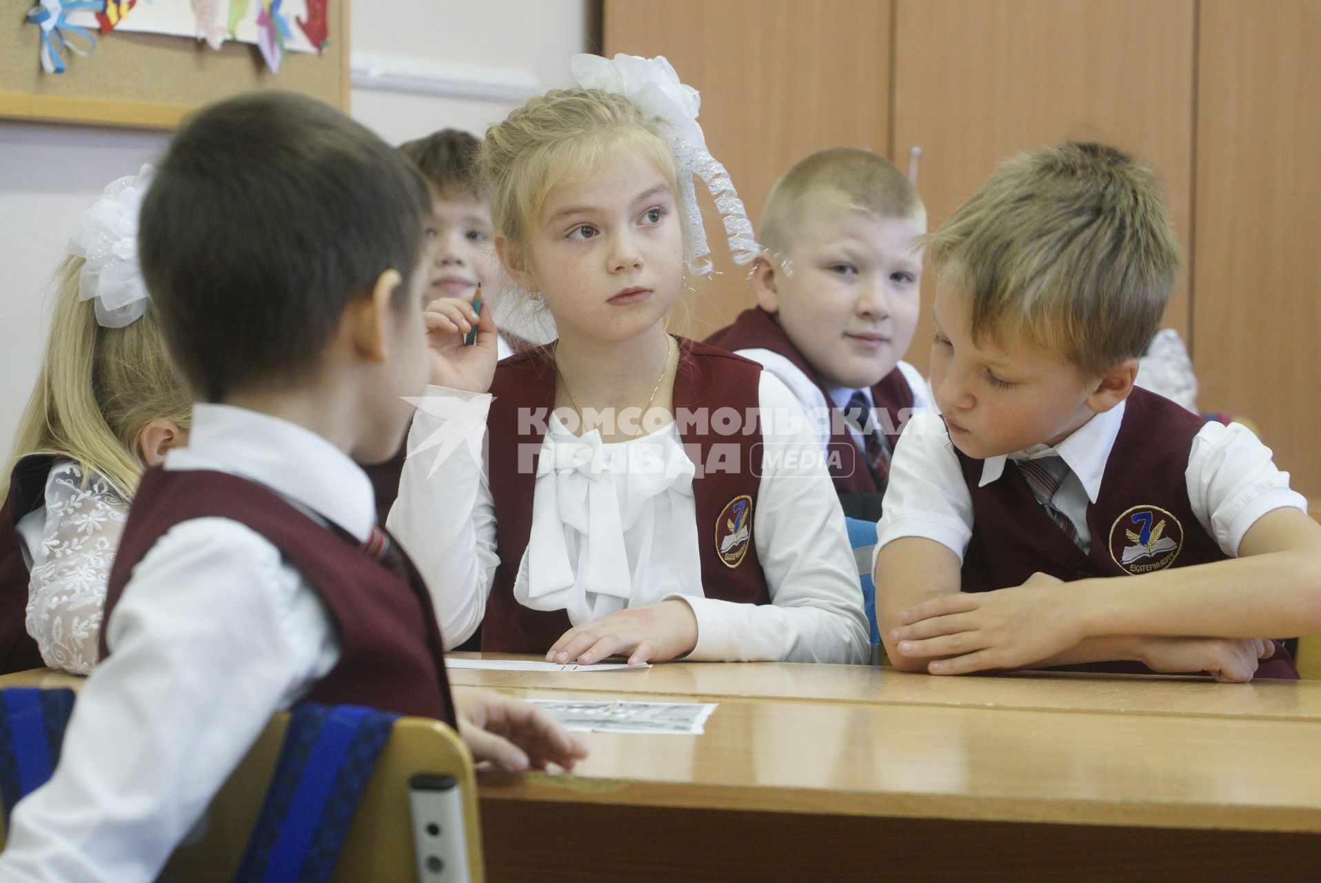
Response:
M281 497L366 541L376 523L371 481L325 438L288 420L231 404L194 404L188 447L166 469L218 469Z

